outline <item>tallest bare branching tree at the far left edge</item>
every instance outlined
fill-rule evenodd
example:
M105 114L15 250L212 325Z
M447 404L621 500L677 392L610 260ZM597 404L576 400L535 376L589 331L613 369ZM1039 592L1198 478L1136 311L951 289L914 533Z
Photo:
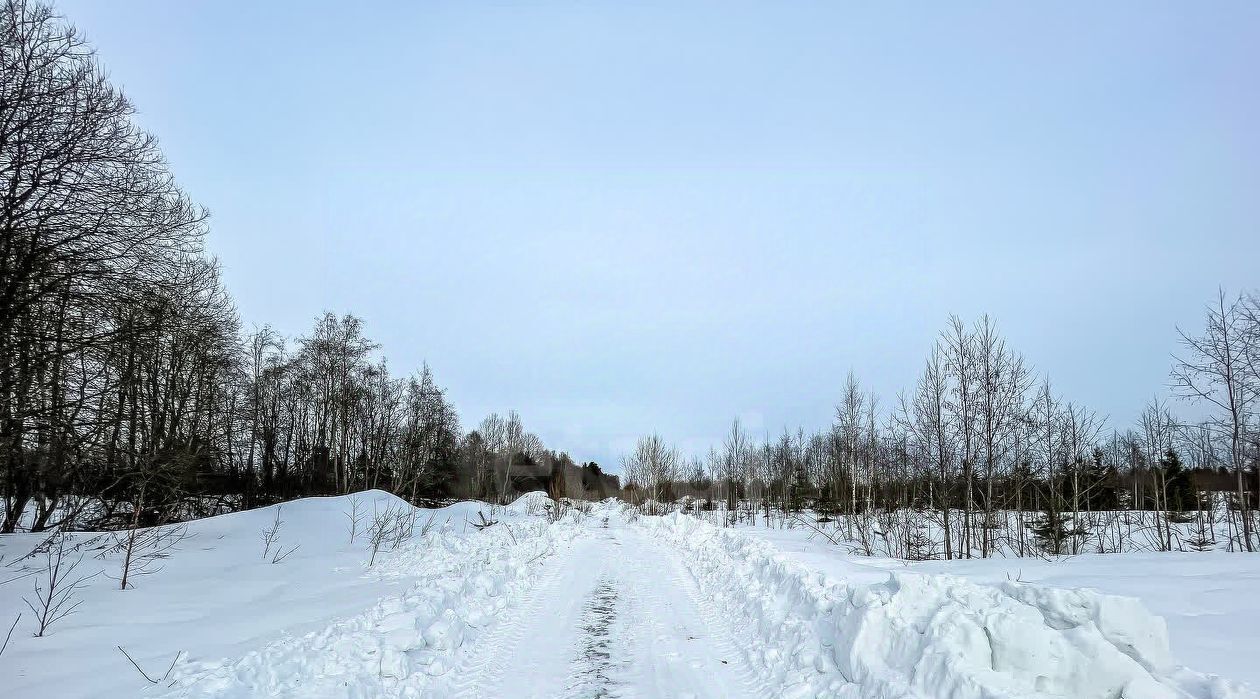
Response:
M112 311L200 252L205 213L132 111L52 9L0 4L0 533L37 495L55 509L98 437Z

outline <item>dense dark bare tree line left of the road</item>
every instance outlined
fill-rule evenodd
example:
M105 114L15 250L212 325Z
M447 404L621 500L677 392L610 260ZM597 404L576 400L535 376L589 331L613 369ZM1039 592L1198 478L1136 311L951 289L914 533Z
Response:
M604 496L515 413L464 432L426 365L394 375L353 315L244 331L208 214L92 48L0 5L0 533L135 526L286 497Z

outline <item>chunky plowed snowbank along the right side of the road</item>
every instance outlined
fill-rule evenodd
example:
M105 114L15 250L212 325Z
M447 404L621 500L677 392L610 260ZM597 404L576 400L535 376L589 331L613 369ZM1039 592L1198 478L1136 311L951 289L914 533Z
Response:
M782 696L1260 696L1178 668L1163 620L1133 598L912 573L843 584L694 518L643 521L689 554L721 616L753 630L746 660Z

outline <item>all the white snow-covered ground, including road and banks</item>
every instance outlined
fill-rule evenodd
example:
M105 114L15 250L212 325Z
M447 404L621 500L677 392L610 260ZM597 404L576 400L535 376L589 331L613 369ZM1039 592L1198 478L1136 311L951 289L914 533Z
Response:
M364 519L403 506L358 501ZM25 611L0 676L14 696L71 698L1208 699L1260 685L1260 564L1245 554L906 565L805 530L548 505L420 510L370 567L348 497L285 504L277 544L299 548L276 563L261 540L276 508L224 515L192 523L127 591L108 577L116 553L97 559L103 540L73 534L76 576L101 574L44 637L23 603L44 537L0 538L0 582L34 573L0 586L0 637Z

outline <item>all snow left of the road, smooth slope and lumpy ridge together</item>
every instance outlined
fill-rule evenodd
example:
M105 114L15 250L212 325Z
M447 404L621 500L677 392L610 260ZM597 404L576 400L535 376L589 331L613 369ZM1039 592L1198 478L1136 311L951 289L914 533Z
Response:
M359 523L352 542L355 511ZM47 534L0 537L0 583L16 578L0 584L0 641L16 615L25 612L0 656L5 689L13 696L52 693L71 699L166 690L170 680L151 686L116 646L151 676L161 676L180 652L171 674L180 683L178 696L309 696L281 681L286 670L302 662L297 649L304 644L312 650L309 668L326 666L348 681L358 681L359 670L368 674L363 664L374 661L373 676L391 662L401 665L398 649L416 651L421 640L423 649L412 654L416 664L408 660L403 669L438 670L450 654L442 646L475 636L479 615L515 603L513 594L549 559L548 547L562 545L575 529L561 521L543 530L543 518L485 503L415 510L410 523L415 538L397 550L387 544L369 568L370 523L375 513L386 511L413 510L393 495L368 491L192 521L189 537L154 567L160 569L134 578L134 589L126 591L118 589L120 553L103 548L111 539L69 534L71 559L82 557L76 577L98 574L77 594L82 606L38 639L23 598L33 598L45 563L42 554L26 554ZM470 524L481 521L479 513L499 524L479 530ZM275 525L277 515L282 524L276 547L292 552L271 563L262 555L261 533ZM539 558L530 562L534 557ZM460 596L470 602L455 605L454 616L435 611ZM355 636L369 626L388 630L392 640L373 646ZM408 640L408 634L418 639ZM362 661L358 670L355 657ZM203 674L205 688L197 683ZM338 689L333 695L353 693Z

